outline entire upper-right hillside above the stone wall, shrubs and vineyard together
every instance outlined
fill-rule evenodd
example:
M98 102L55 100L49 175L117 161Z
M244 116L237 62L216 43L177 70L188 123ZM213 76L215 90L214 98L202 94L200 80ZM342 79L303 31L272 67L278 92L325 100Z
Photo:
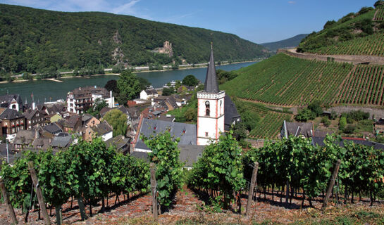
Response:
M383 5L363 7L340 20L328 21L320 32L302 40L297 51L318 54L384 55Z

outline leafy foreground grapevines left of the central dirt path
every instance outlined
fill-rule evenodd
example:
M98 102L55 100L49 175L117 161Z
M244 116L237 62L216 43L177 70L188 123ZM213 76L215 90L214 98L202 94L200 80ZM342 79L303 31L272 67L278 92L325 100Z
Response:
M172 196L180 188L181 163L178 160L180 151L177 149L177 140L172 140L169 133L159 135L147 144L153 150L149 154L156 165L157 193L161 210L171 204ZM154 145L155 143L155 145ZM172 149L172 146L174 147ZM166 159L166 160L165 160ZM37 184L32 186L32 169L36 170ZM25 214L25 223L28 222L30 210L37 208L40 198L34 193L35 186L42 187L42 197L50 207L55 207L56 221L62 219L62 205L71 198L78 201L81 219L87 219L85 205L89 205L89 214L92 217L92 206L99 201L104 212L105 200L119 195L138 195L149 191L149 164L144 160L117 153L116 147L106 148L106 143L101 138L92 142L83 141L64 152L55 155L52 150L39 151L38 153L26 150L16 162L9 166L3 162L1 167L1 183L6 189L9 203L12 207L21 209ZM1 187L3 189L3 187ZM37 189L37 188L36 188ZM140 194L139 194L140 195ZM4 200L4 198L2 198ZM120 202L120 200L119 200ZM39 207L39 213L40 209ZM72 206L70 207L72 210ZM44 209L42 210L44 216ZM46 217L44 217L45 221ZM46 222L47 224L47 222Z

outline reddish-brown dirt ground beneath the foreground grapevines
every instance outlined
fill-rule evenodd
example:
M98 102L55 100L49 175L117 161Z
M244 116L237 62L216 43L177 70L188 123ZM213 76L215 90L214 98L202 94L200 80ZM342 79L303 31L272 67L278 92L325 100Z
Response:
M260 197L260 198L259 198ZM282 202L280 203L280 197ZM124 200L123 195L119 196L120 203L116 197L109 198L108 207L105 212L100 212L101 202L92 207L93 216L81 221L77 201L73 201L72 210L70 202L63 205L63 224L158 224L151 219L151 196L134 195L130 199ZM314 200L314 208L309 207L306 200L304 207L301 207L302 196L292 199L292 204L286 204L284 196L258 193L254 199L249 217L245 216L247 205L247 195L241 195L242 212L235 212L237 205L233 205L236 210L223 212L213 212L213 207L205 206L206 198L186 187L179 191L174 200L174 204L168 212L159 216L159 224L316 224L318 221L328 221L333 224L337 218L353 219L361 221L361 224L384 224L384 205L382 202L374 203L369 207L368 201L347 205L335 205L332 201L326 211L322 212L321 199ZM89 216L89 206L86 207ZM48 212L49 213L49 212ZM359 219L359 215L366 215ZM21 210L16 210L19 224L24 221ZM367 219L368 218L368 219ZM52 210L51 223L56 223L55 210ZM11 224L11 218L6 212L4 204L0 207L0 224ZM38 219L38 212L31 210L27 224L44 224L42 219ZM356 223L354 223L356 224Z

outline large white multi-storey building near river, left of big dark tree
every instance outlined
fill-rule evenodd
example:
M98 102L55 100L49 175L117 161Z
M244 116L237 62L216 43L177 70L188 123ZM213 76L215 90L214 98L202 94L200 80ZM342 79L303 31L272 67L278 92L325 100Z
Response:
M115 98L112 91L107 91L104 87L85 86L68 92L67 110L71 113L85 113L96 102L97 98L106 101L109 108L113 108Z

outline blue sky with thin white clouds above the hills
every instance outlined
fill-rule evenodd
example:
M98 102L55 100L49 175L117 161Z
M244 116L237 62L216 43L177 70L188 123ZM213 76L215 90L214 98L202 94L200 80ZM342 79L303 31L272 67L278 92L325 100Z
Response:
M376 0L0 0L54 11L103 11L202 27L264 43L323 28Z

